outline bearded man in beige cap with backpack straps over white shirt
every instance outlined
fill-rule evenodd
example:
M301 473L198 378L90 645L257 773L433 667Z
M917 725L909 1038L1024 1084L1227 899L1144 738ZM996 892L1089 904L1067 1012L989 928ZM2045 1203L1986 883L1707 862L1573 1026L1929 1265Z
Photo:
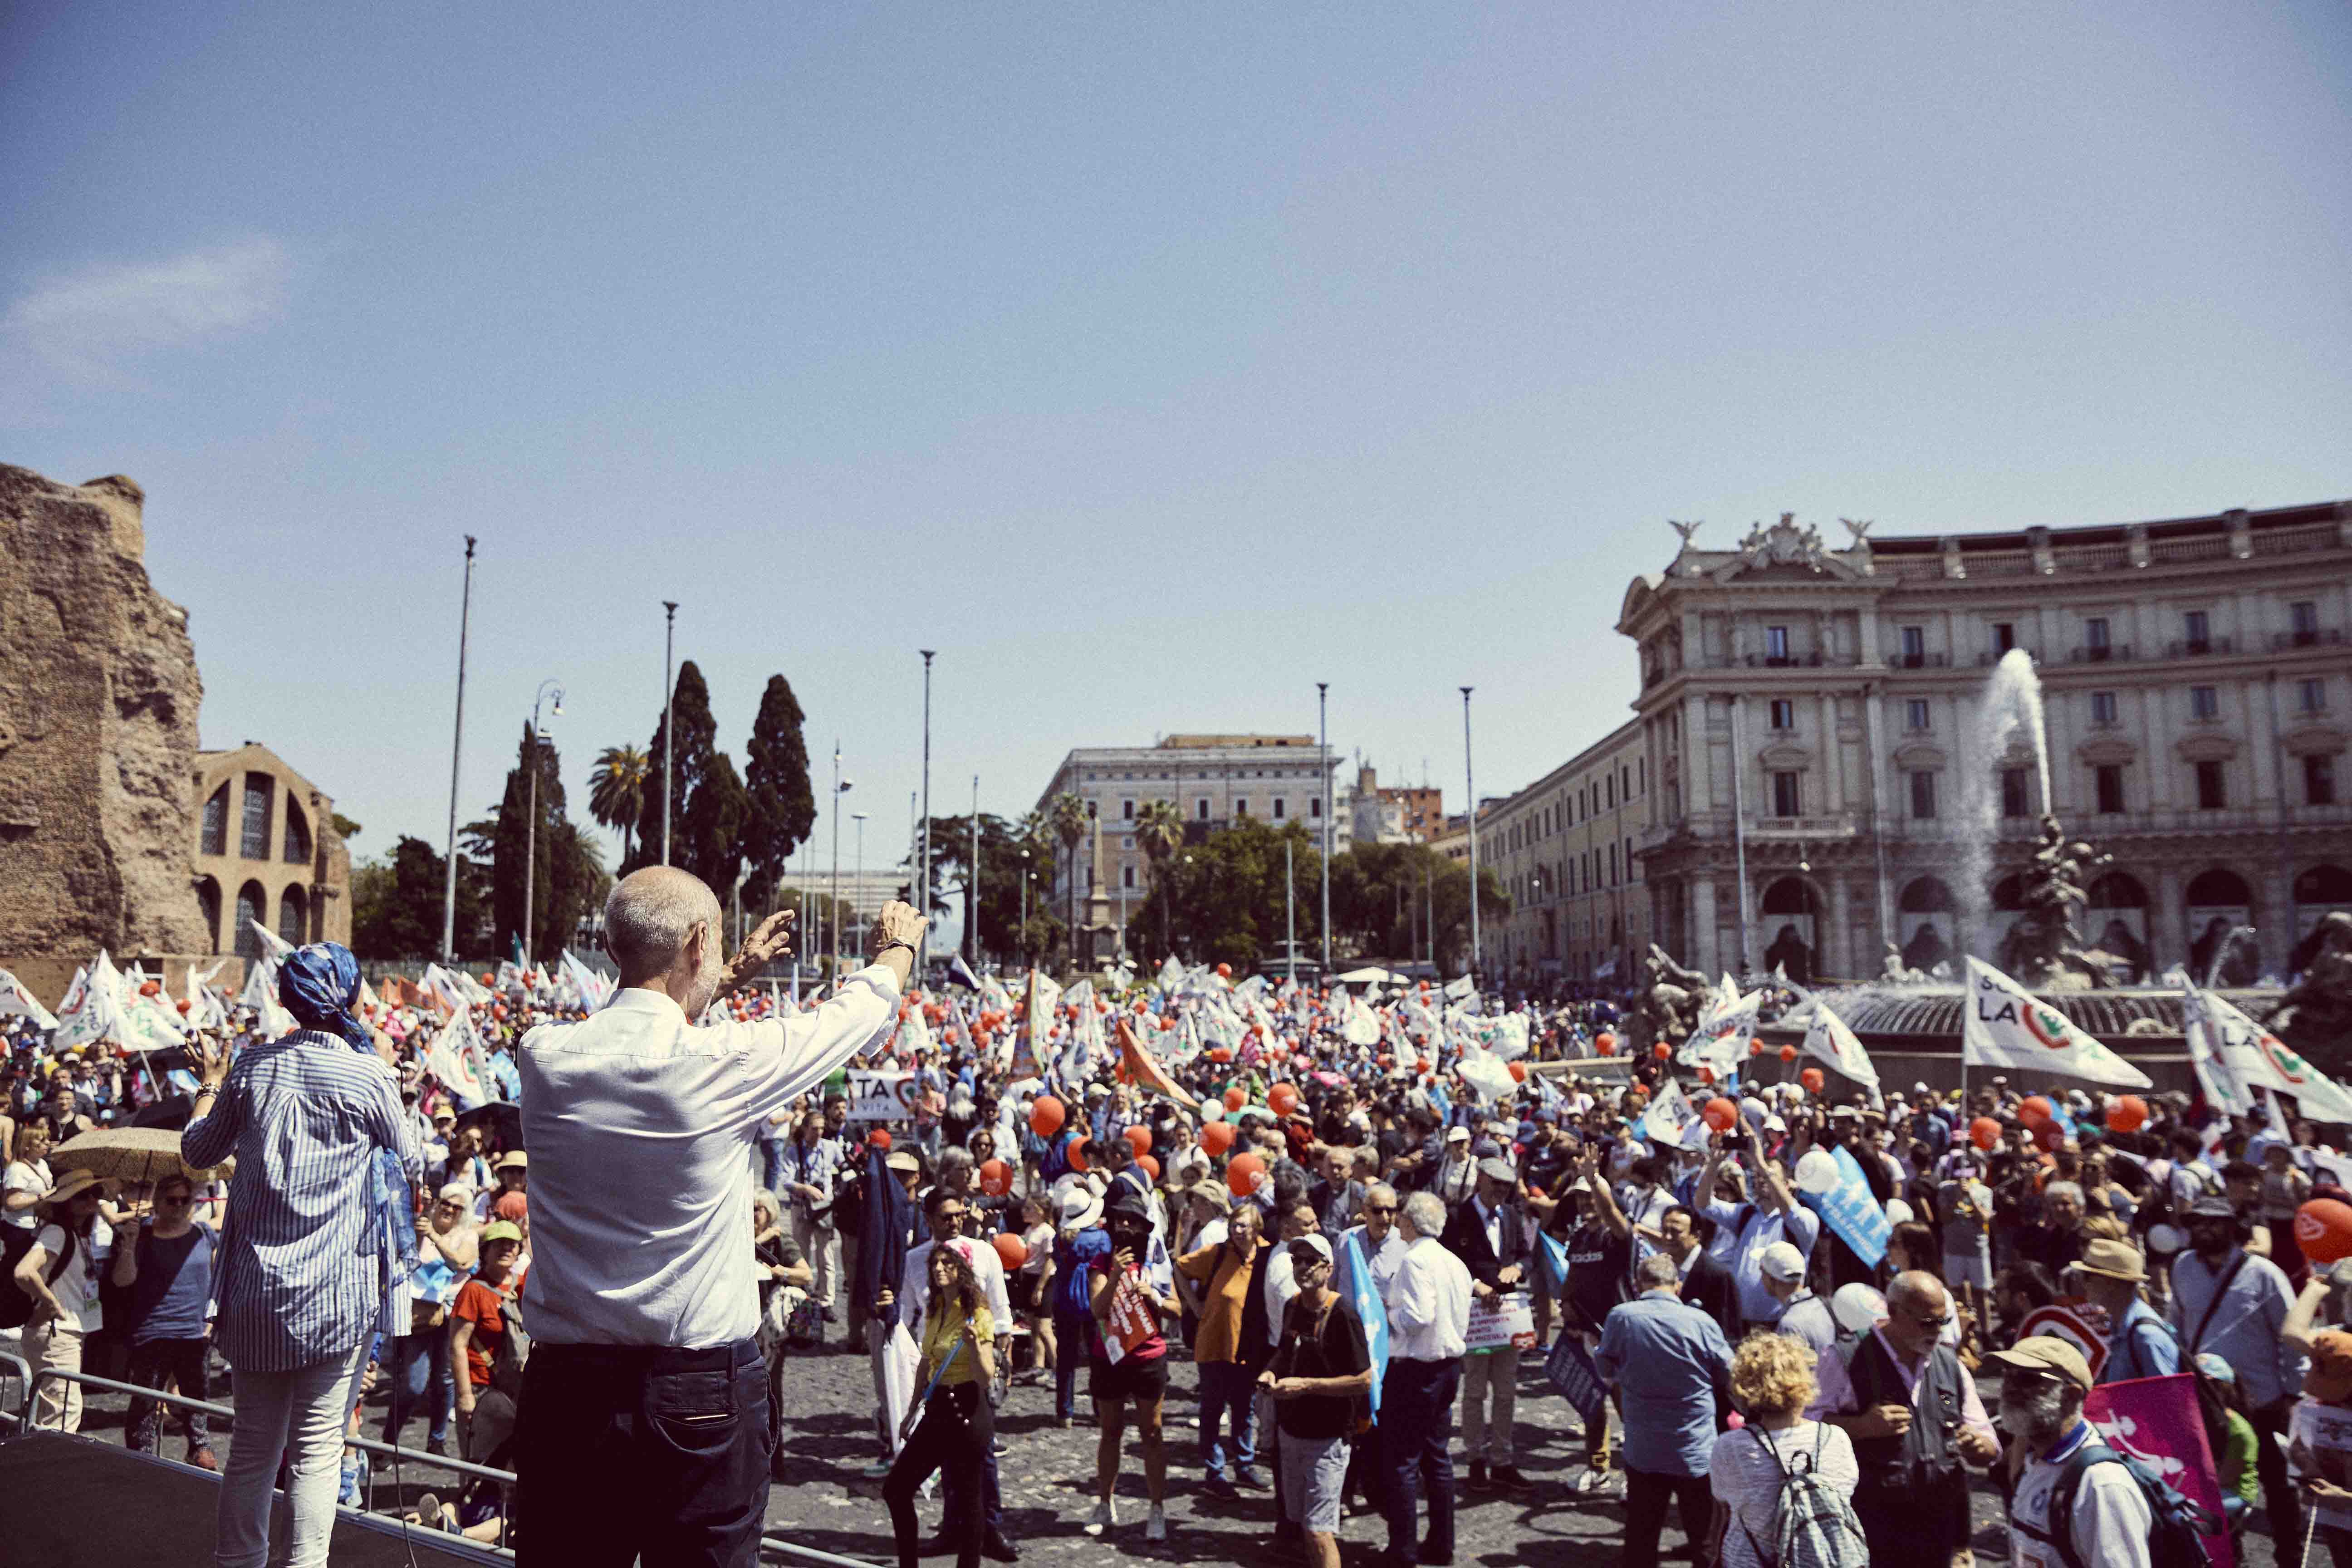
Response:
M2154 1516L2140 1483L2082 1418L2091 1392L2082 1352L2037 1333L1987 1361L2002 1368L2002 1425L2025 1443L2009 1497L2011 1568L2147 1568Z

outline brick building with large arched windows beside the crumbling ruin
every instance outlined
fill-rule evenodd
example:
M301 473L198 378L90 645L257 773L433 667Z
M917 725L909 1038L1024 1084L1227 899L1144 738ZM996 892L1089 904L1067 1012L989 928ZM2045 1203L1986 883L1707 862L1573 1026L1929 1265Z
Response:
M350 849L334 799L270 748L195 755L193 844L207 952L261 957L249 922L294 945L350 943Z

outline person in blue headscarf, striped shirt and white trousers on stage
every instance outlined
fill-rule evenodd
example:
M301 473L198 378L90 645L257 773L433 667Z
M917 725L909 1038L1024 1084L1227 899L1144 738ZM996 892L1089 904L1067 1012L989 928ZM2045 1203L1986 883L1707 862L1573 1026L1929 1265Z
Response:
M261 1568L270 1486L289 1455L289 1568L327 1561L343 1425L393 1286L416 1262L414 1187L423 1159L400 1112L400 1079L350 1016L360 966L348 947L296 947L278 969L292 1034L198 1044L195 1119L181 1159L238 1159L221 1234L219 1345L238 1375L238 1429L221 1483L221 1568Z

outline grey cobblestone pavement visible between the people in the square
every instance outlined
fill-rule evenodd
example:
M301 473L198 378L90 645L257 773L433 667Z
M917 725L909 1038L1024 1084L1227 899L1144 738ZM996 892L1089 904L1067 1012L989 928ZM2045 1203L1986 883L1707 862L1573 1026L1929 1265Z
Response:
M767 1528L781 1540L887 1563L891 1561L891 1535L889 1514L882 1507L882 1483L861 1474L880 1458L873 1380L866 1356L837 1349L840 1328L833 1333L833 1349L800 1354L786 1368L786 1479L769 1495ZM1080 1373L1082 1413L1068 1429L1054 1425L1049 1380L1011 1389L997 1413L997 1441L1004 1448L997 1474L1004 1490L1007 1535L1021 1547L1023 1563L1138 1559L1275 1568L1287 1561L1272 1547L1272 1493L1242 1493L1240 1500L1216 1500L1202 1493L1200 1432L1190 1425L1197 1408L1197 1380L1190 1361L1171 1363L1169 1385L1167 1542L1143 1540L1143 1460L1134 1432L1127 1434L1120 1469L1120 1526L1103 1537L1080 1530L1094 1505L1096 1450L1096 1427L1084 1413L1084 1373ZM1987 1385L1985 1394L1990 1401L1994 1389ZM221 1396L221 1392L214 1394L214 1399ZM374 1394L369 1396L367 1434L374 1436L381 1425L381 1394ZM120 1441L122 1399L94 1396L85 1429L92 1436ZM1573 1439L1576 1429L1566 1401L1543 1385L1536 1361L1526 1359L1519 1378L1517 1462L1536 1490L1526 1497L1463 1493L1456 1512L1456 1563L1597 1568L1623 1556L1623 1502L1616 1495L1571 1490L1573 1476L1583 1469L1583 1446ZM412 1420L405 1432L407 1443L421 1448L423 1436L423 1420ZM219 1436L214 1441L226 1455L226 1443ZM181 1455L176 1434L167 1439L165 1453ZM1458 1453L1456 1436L1456 1481L1461 1479ZM447 1474L407 1469L402 1481L405 1486L395 1495L390 1474L379 1472L376 1509L409 1502L428 1486L445 1495L449 1490ZM936 1528L938 1505L924 1502L920 1512L924 1530ZM1973 1514L1978 1563L1985 1568L2006 1563L2009 1535L2002 1526L2002 1500L1985 1483L1976 1488ZM1362 1568L1371 1563L1385 1540L1388 1530L1378 1516L1355 1514L1345 1519L1341 1530L1341 1559L1348 1568ZM1665 1561L1689 1561L1682 1533L1672 1526L1665 1533ZM2260 1533L2249 1535L2244 1561L2253 1568L2272 1568L2270 1540ZM1929 1566L1905 1563L1903 1568Z

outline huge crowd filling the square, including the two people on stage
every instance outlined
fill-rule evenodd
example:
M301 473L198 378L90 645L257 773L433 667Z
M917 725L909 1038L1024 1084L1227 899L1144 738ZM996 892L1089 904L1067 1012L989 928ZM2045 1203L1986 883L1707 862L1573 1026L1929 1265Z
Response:
M1383 1566L1439 1566L1456 1505L1503 1495L1618 1512L1637 1568L1670 1519L1700 1563L1957 1566L1990 1483L2034 1568L2246 1533L2352 1563L2343 1128L2277 1098L1865 1093L1771 1081L1769 1056L1700 1084L1606 1001L1468 983L1169 964L915 990L903 905L875 964L795 1001L757 978L788 919L731 964L722 929L659 870L607 910L616 985L506 966L388 999L334 945L287 952L294 1027L230 1013L179 1086L12 1020L26 1359L195 1399L226 1361L221 1563L263 1561L280 1460L294 1561L322 1561L332 1500L365 1505L346 1439L379 1387L383 1441L421 1425L428 1453L520 1472L426 1495L423 1528L750 1561L814 1354L866 1356L866 1479L906 1566L1018 1559L995 1410L1023 1382L1096 1427L1070 1528L1103 1540L1169 1540L1183 1490L1263 1495L1287 1559L1336 1568L1352 1516ZM1658 1114L1684 1098L1705 1117ZM160 1180L73 1161L174 1117ZM2199 1439L2166 1462L2112 1415L2145 1380ZM1522 1396L1573 1410L1566 1481L1519 1469ZM75 1429L80 1389L45 1382L31 1420ZM219 1469L200 1413L139 1401L125 1441L167 1425ZM659 1516L583 1526L555 1474Z

